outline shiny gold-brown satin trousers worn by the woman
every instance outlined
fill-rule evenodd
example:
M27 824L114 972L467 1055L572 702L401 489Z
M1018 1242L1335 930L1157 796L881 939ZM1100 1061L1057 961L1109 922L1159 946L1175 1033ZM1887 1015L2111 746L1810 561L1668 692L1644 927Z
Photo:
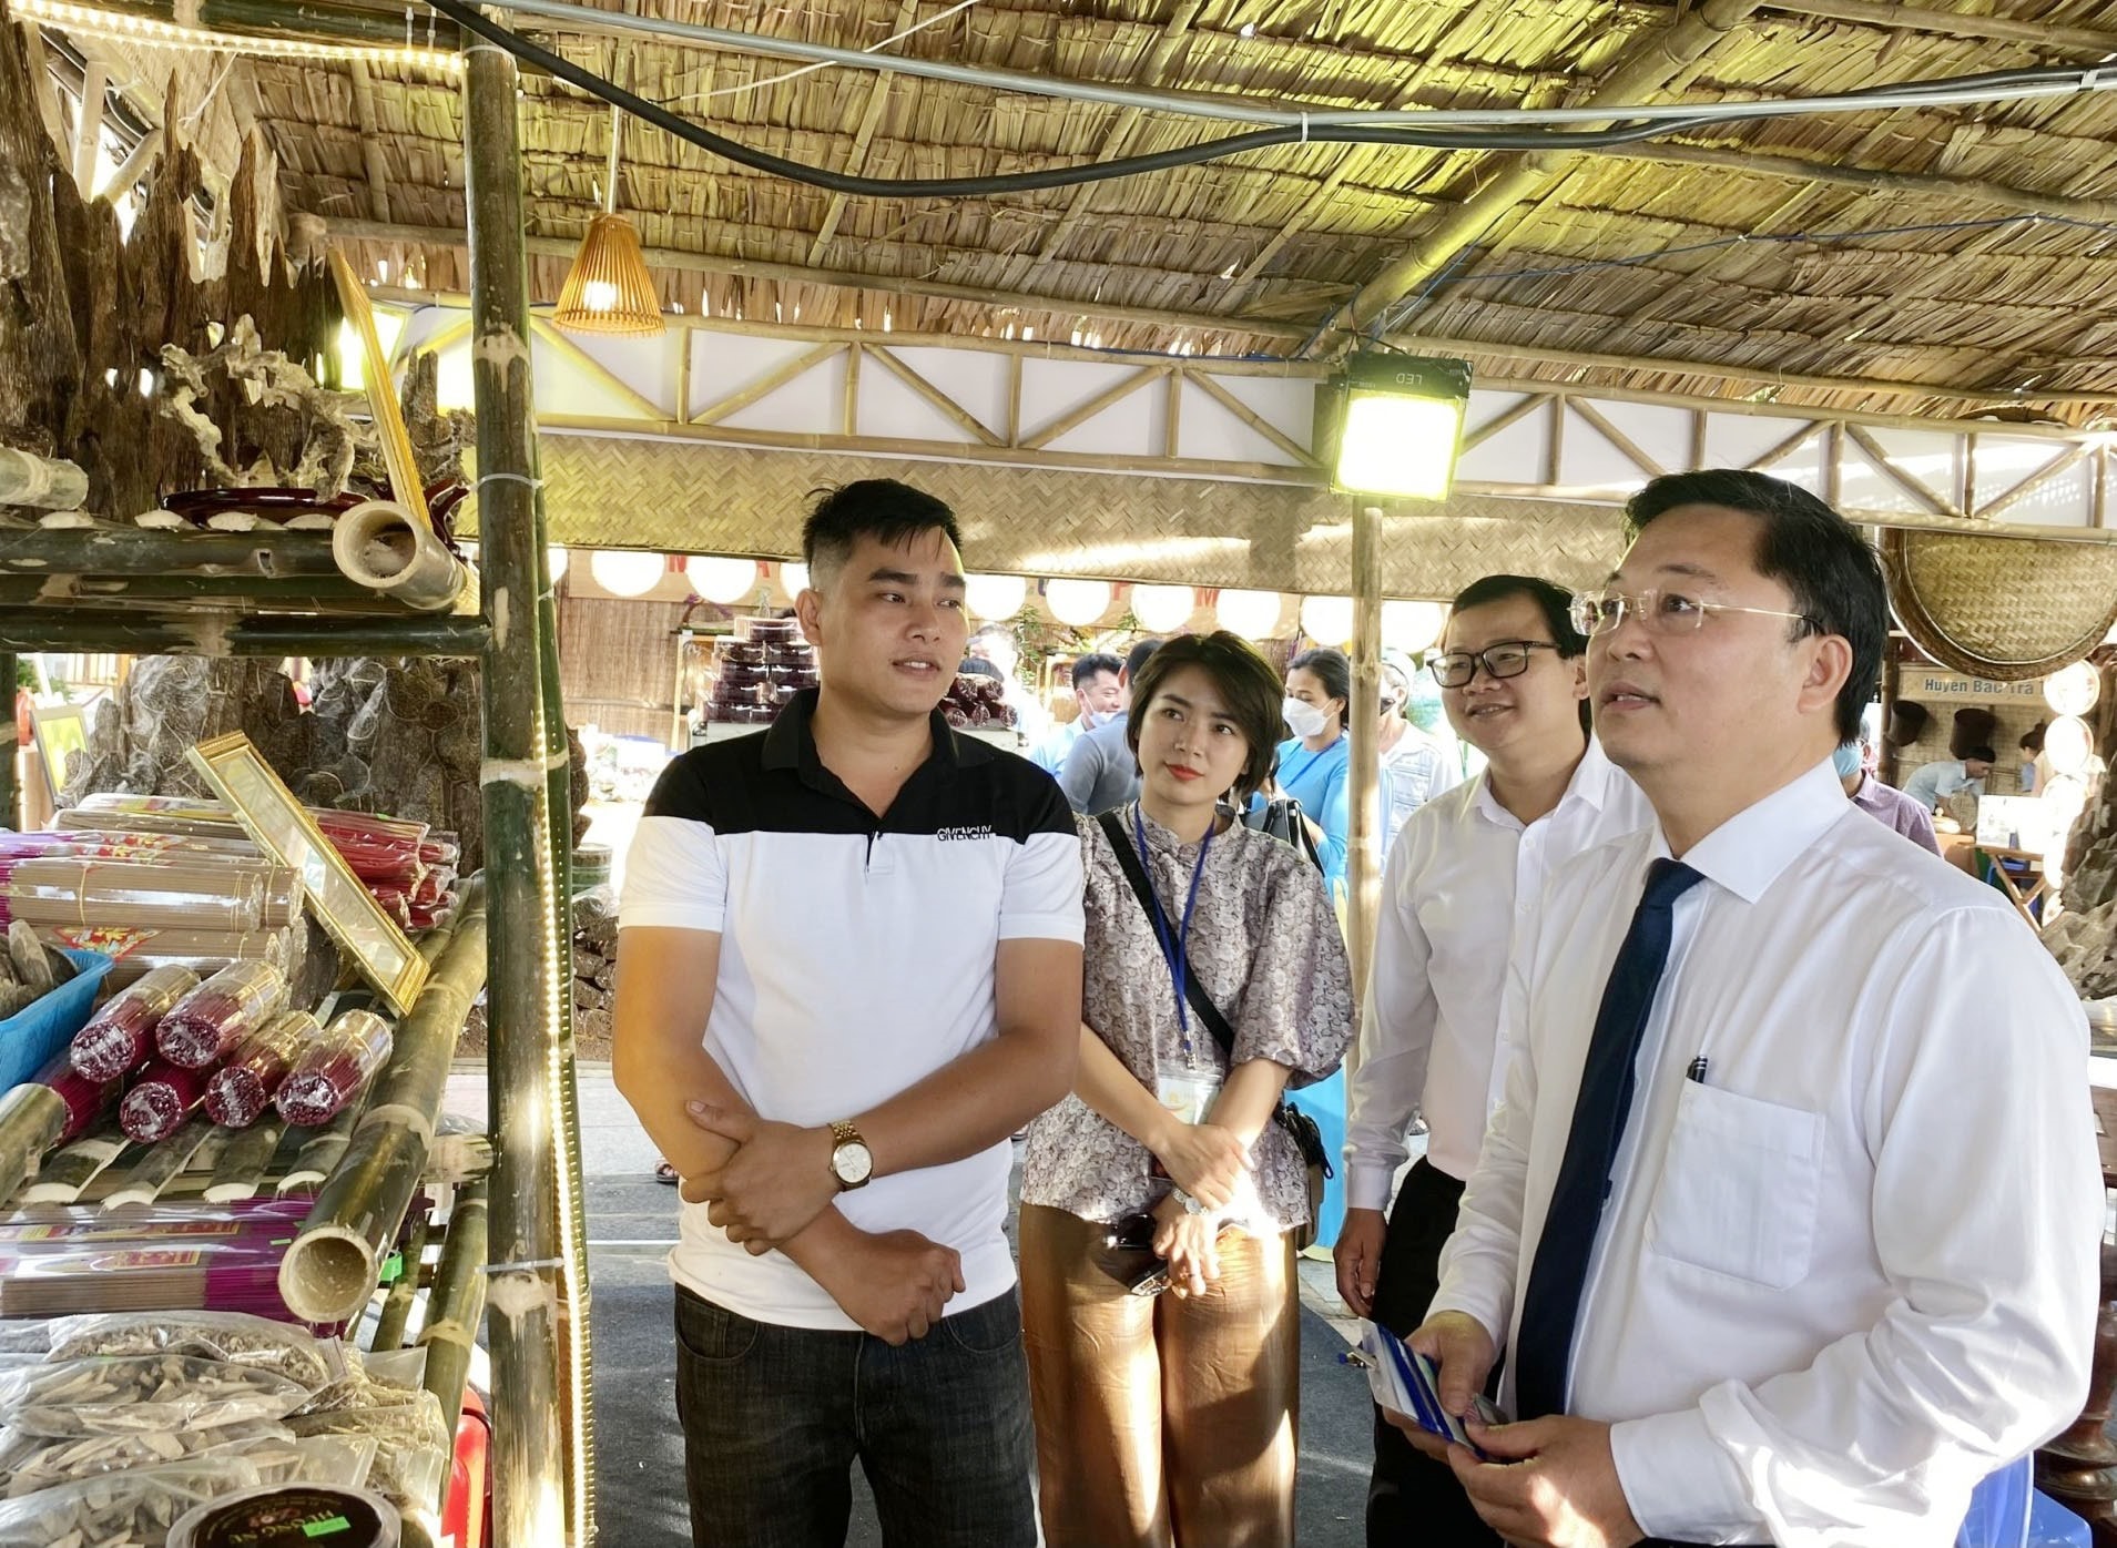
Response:
M1293 1542L1300 1302L1287 1237L1228 1230L1205 1296L1135 1296L1107 1226L1023 1205L1023 1334L1048 1548Z

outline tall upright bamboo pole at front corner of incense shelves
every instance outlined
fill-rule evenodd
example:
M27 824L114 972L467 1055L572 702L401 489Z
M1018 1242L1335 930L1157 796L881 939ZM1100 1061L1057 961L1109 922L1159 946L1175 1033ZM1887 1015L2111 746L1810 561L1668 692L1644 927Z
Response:
M470 224L472 385L478 424L478 540L485 614L485 864L491 896L487 997L493 1199L487 1273L493 1370L493 1535L504 1544L586 1544L565 1472L559 1379L559 1192L550 1067L559 1038L553 940L548 769L542 735L542 627L536 508L536 400L523 246L514 61L474 49L464 68ZM521 631L529 633L525 642ZM569 987L567 987L569 989Z

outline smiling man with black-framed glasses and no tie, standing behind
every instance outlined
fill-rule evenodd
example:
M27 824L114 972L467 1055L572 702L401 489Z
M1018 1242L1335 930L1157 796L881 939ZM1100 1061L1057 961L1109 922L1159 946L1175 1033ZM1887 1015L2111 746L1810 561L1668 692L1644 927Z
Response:
M1361 1317L1412 1332L1433 1298L1463 1180L1499 1101L1507 953L1545 872L1653 822L1639 788L1588 735L1588 642L1569 593L1533 576L1486 576L1448 616L1429 659L1456 735L1486 756L1480 779L1414 811L1389 849L1374 972L1349 1095L1346 1224L1338 1294ZM1406 1135L1427 1154L1385 1220ZM1446 1465L1374 1425L1368 1542L1499 1542Z

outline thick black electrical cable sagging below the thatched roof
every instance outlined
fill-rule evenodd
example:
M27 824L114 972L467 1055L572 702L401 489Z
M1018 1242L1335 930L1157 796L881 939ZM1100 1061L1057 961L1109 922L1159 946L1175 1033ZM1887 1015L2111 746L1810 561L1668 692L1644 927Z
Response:
M1116 178L1137 178L1147 172L1169 172L1171 167L1198 165L1202 161L1219 161L1224 157L1238 157L1249 150L1268 150L1272 146L1289 144L1372 144L1372 146L1410 146L1425 150L1598 150L1603 146L1636 144L1641 140L1655 140L1666 133L1683 133L1694 129L1708 129L1727 123L1727 114L1698 116L1698 119L1647 119L1647 121L1622 121L1609 129L1404 129L1404 127L1374 127L1363 129L1357 125L1281 125L1274 129L1253 129L1247 133L1222 136L1219 140L1205 140L1194 146L1179 146L1175 150L1156 150L1141 157L1118 157L1114 161L1082 161L1069 167L1046 167L1042 172L1010 172L989 178L862 178L845 172L832 172L830 167L815 167L804 161L788 161L785 157L775 157L768 150L754 150L741 140L728 140L711 129L703 129L688 119L680 119L656 102L633 95L625 87L618 87L593 70L584 70L572 59L563 59L557 53L523 38L497 21L489 21L478 13L476 6L464 4L462 0L428 0L434 11L455 21L466 32L474 32L485 38L491 47L504 49L523 64L536 66L559 80L580 87L589 95L601 97L603 102L620 108L635 119L652 123L654 127L694 144L701 150L709 150L718 157L735 161L737 165L752 167L754 172L766 172L775 178L788 178L792 182L804 182L815 188L826 188L830 193L860 195L870 199L978 199L1006 193L1029 193L1037 188L1069 188L1082 182L1109 182ZM476 44L470 44L476 47ZM2049 80L2077 80L2079 70L2058 68L2058 70L2003 70L1982 76L1956 76L1948 80L1920 80L1910 85L1890 87L1867 87L1861 91L1848 91L1844 95L1861 97L1905 97L1905 95L1929 95L1937 91L1962 91L1969 87L2011 87L2011 85L2037 85Z

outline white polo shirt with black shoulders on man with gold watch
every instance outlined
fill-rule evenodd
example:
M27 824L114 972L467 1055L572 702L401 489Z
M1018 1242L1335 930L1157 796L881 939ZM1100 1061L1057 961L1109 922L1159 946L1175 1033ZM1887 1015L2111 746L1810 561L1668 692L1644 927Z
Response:
M876 817L815 752L815 692L756 737L675 758L625 862L620 928L720 936L705 1048L764 1118L824 1124L917 1084L997 1033L1001 940L1082 938L1073 813L1025 758L934 716L934 754ZM876 1177L838 1209L963 1256L970 1311L1014 1283L1006 1141ZM779 1252L749 1256L684 1205L677 1283L754 1321L853 1328Z

